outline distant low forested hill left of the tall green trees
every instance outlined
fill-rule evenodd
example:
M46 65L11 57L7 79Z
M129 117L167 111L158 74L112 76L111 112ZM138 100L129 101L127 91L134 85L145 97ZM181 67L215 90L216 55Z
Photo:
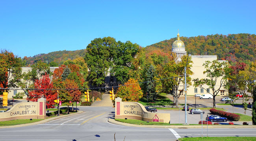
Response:
M54 51L48 54L39 54L33 57L24 57L23 60L26 60L26 66L31 66L35 62L42 60L45 63L56 62L60 66L65 60L71 59L74 60L79 57L84 57L86 49L76 50L76 51Z

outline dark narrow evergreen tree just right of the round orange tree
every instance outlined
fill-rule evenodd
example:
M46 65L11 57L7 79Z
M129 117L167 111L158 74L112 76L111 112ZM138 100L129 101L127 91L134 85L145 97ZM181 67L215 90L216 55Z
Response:
M150 64L146 73L146 77L147 77L146 91L147 91L148 98L150 98L151 101L156 100L156 87L154 82L152 82L154 80L155 72L156 70L154 66Z

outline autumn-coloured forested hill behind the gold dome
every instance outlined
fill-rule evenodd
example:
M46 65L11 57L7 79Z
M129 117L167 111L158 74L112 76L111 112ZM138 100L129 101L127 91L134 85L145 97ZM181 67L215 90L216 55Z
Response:
M173 42L177 38L164 40L145 48L146 53L161 49L171 51ZM247 62L256 59L256 35L255 34L229 34L207 35L198 37L180 37L185 44L187 54L191 55L217 55L219 60Z

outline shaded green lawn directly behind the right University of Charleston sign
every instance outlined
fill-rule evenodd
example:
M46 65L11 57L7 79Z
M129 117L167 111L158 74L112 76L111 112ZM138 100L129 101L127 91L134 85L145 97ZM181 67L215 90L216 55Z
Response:
M148 103L147 103L147 97L142 97L141 99L139 99L138 102L143 104L144 106L172 105L173 101L171 101L165 95L166 93L161 93L160 95L157 96L157 99L154 102L151 102L150 99L148 99Z

